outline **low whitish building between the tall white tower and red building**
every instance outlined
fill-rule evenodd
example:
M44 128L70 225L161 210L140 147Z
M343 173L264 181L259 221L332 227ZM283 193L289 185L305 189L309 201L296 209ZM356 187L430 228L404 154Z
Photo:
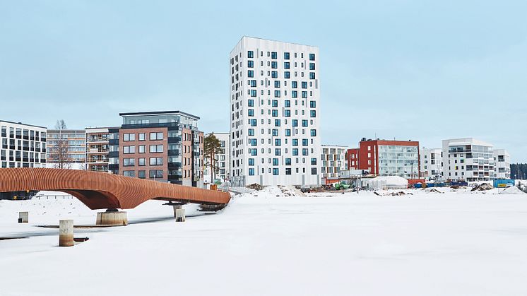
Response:
M347 168L345 146L321 146L321 177L322 179L338 179L339 173Z

